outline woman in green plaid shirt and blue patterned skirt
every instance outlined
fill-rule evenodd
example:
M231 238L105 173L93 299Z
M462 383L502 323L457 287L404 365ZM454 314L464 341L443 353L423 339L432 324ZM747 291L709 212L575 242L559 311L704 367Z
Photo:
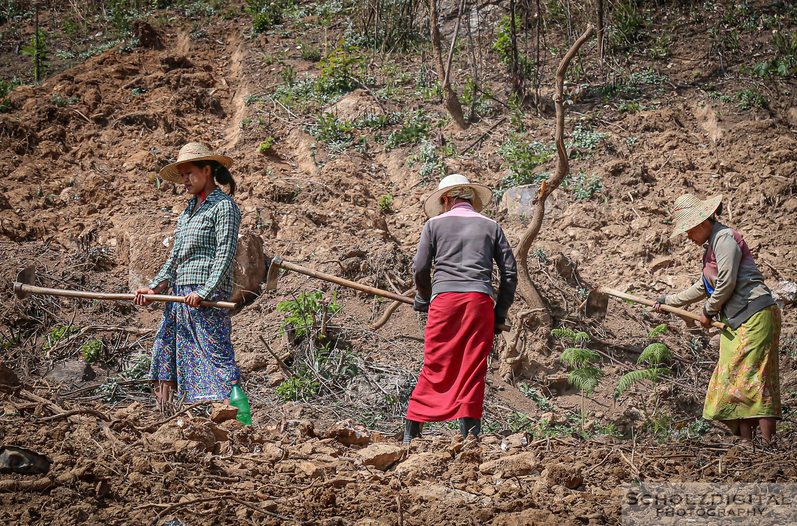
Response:
M134 303L146 306L148 294L172 288L186 303L168 303L152 348L150 379L160 406L173 391L186 401L224 400L240 378L230 342L226 310L199 307L202 299L225 300L233 292L233 260L241 212L230 197L233 160L214 156L198 143L180 149L177 161L160 171L164 180L185 185L192 197L180 214L174 246L149 287L135 291ZM229 184L230 195L216 184Z

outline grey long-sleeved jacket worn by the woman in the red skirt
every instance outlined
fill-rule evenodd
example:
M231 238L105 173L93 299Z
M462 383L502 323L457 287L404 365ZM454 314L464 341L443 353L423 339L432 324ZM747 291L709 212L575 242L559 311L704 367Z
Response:
M501 273L497 295L493 261ZM428 303L442 292L481 292L495 299L496 317L506 318L515 299L517 265L512 247L498 223L469 203L455 204L449 212L426 221L413 271L418 303Z

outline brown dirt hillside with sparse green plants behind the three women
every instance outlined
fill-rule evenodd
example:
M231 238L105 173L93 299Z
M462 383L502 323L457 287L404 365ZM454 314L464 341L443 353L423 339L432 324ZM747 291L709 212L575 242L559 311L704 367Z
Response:
M793 72L773 73L797 62L789 6L611 2L603 59L588 42L568 72L571 174L548 200L529 259L553 326L589 341L553 335L544 352L532 350L536 326L518 297L520 337L515 350L497 338L480 443L445 423L409 448L398 443L422 366L423 316L399 307L376 328L389 302L295 274L257 291L274 255L412 288L422 202L450 173L496 190L485 213L516 246L530 215L518 196L534 195L556 164L553 72L591 21L583 7L568 18L567 2L548 3L544 31L531 7L519 16L520 101L505 62L508 6L465 2L457 24L458 2L441 5L444 44L459 35L453 82L468 129L442 104L422 7L410 33L387 45L346 2L275 2L254 18L252 6L224 2L131 8L120 38L99 14L77 38L65 22L77 19L71 8L49 6L41 23L61 52L38 85L22 47L0 46L2 76L23 84L0 97L0 334L10 366L0 370L0 444L53 460L42 478L0 477L10 492L0 518L618 524L624 482L795 481L797 83ZM273 10L281 19L266 24ZM16 16L0 28L10 42L31 42L32 18ZM92 54L84 49L96 54L82 58ZM143 379L158 307L13 293L29 265L45 287L147 283L186 204L183 188L157 174L190 140L235 161L238 275L258 294L234 314L233 342L253 428L206 405L155 412ZM699 277L701 248L669 239L684 192L723 194L723 222L742 232L781 297L776 448L742 449L702 421L716 330L614 300L602 320L579 308L597 285L653 299ZM615 397L623 374L646 367L637 359L654 340L673 355L670 373ZM559 359L577 343L601 354L590 397Z

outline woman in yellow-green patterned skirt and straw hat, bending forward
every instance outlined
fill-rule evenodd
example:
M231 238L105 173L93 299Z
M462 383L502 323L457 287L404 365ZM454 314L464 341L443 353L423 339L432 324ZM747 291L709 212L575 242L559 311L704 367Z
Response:
M681 307L707 299L701 325L710 327L713 318L728 325L720 336L720 359L703 417L722 421L745 441L752 441L760 427L761 440L770 444L781 417L780 310L740 233L717 221L721 201L721 195L701 200L691 194L675 200L670 239L686 232L705 248L703 274L692 287L659 298L658 304Z

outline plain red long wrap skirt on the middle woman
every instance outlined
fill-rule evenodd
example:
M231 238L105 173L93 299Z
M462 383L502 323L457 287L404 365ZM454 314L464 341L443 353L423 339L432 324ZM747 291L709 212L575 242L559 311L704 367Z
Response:
M435 296L426 320L423 369L410 396L407 420L481 419L494 322L489 295L444 292Z

